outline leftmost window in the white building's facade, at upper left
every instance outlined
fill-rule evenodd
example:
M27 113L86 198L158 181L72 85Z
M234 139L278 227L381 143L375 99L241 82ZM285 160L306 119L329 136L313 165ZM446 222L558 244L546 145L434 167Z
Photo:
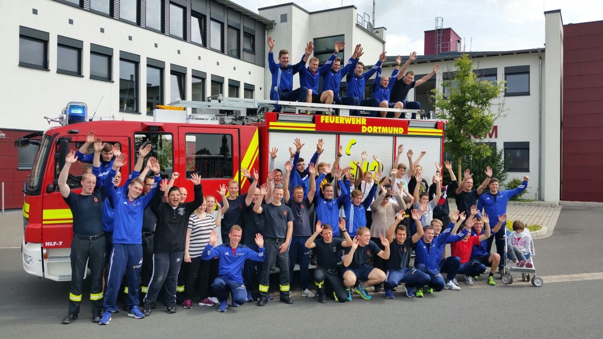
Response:
M48 70L48 33L19 27L19 66Z

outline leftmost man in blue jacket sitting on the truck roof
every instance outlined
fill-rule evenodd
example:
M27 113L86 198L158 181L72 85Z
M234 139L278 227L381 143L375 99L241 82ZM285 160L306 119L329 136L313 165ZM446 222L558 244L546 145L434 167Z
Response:
M306 54L303 59L295 65L289 65L289 51L281 49L279 51L279 63L274 62L274 40L271 36L268 37L268 69L272 74L272 85L270 86L270 99L271 100L284 100L284 101L305 101L306 103L312 102L312 96L308 95L308 87L302 86L298 89L293 89L293 75L305 68L306 62L312 54L312 43L306 45ZM274 110L280 112L280 105L274 105Z

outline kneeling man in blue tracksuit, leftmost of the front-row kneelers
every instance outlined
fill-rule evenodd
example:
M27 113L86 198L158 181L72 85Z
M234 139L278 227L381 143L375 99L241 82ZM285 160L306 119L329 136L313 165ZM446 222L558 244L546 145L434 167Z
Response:
M209 244L201 255L203 260L219 259L219 275L213 280L212 284L213 293L216 294L220 302L218 312L226 312L229 293L232 296L230 306L238 307L247 302L247 289L241 276L245 260L262 262L266 259L262 235L260 233L256 234L256 245L259 252L255 252L245 245L239 246L242 234L241 226L233 225L230 227L228 235L229 243L214 247L218 243L218 232L213 230L209 235Z

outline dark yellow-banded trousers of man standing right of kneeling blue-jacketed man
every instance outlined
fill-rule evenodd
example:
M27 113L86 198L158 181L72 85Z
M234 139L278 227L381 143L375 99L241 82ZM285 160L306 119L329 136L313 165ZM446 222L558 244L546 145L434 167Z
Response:
M279 247L285 242L285 238L264 238L264 248L266 250L266 261L260 275L259 291L261 297L268 297L268 287L270 287L270 268L276 260L279 267L279 289L281 297L289 297L289 249L285 253L279 253Z

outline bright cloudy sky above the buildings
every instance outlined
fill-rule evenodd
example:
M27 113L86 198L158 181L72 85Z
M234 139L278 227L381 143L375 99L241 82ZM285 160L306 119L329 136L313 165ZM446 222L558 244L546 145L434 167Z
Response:
M232 0L249 10L288 0ZM373 0L295 0L308 11L355 5L358 13L373 11ZM444 18L463 39L466 51L509 51L543 47L544 11L561 9L563 24L603 20L601 0L376 0L375 25L387 27L388 55L423 54L423 31Z

